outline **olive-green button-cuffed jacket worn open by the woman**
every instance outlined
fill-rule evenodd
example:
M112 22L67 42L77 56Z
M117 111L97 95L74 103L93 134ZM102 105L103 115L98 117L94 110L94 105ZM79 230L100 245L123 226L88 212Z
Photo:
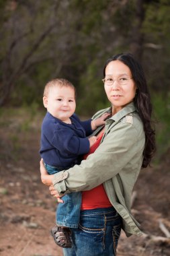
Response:
M93 119L111 110L100 110ZM54 174L55 189L65 194L93 189L103 183L110 202L122 216L126 236L142 234L130 213L130 201L142 166L144 143L142 121L131 102L106 121L101 143L87 160Z

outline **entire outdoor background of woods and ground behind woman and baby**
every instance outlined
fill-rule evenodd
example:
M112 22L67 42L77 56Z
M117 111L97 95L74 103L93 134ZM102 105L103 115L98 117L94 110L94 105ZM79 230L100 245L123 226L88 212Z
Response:
M46 82L77 88L82 119L110 104L103 65L130 52L142 63L153 103L157 153L133 191L144 238L122 233L119 256L170 256L169 0L0 0L0 255L61 256L50 237L56 201L40 181ZM167 236L165 238L165 236Z

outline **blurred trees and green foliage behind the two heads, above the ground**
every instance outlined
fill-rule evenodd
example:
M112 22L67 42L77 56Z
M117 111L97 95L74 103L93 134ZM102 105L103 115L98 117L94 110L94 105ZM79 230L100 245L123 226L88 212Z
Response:
M108 106L105 61L130 52L151 91L159 159L170 146L169 13L168 0L0 0L1 115L44 111L44 85L65 77L77 88L77 113L91 116Z

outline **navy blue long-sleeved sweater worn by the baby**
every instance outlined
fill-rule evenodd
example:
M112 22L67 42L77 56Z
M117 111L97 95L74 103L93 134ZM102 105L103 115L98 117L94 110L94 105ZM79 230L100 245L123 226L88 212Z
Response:
M86 136L92 132L91 119L80 121L73 114L70 125L47 112L42 122L40 156L51 166L69 167L76 163L78 156L89 152Z

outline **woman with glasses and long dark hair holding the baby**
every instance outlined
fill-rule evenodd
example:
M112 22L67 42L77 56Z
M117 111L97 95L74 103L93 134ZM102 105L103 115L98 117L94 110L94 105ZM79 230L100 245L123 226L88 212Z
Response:
M103 75L112 106L93 119L107 112L111 117L97 134L93 154L50 176L41 162L42 183L51 185L58 202L67 193L82 191L79 228L71 229L73 245L63 249L64 255L113 256L121 228L126 236L142 234L130 213L130 197L140 168L148 166L155 152L150 95L142 67L130 54L108 59Z

